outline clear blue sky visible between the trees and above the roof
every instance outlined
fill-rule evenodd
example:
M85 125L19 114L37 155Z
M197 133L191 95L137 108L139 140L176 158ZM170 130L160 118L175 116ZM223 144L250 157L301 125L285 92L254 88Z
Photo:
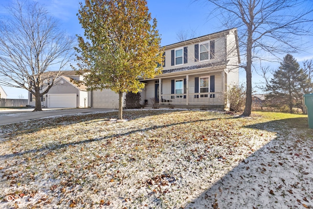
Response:
M47 10L61 23L63 29L69 34L83 35L77 12L80 0L37 0L44 4ZM152 18L157 20L157 28L161 34L161 45L166 46L178 42L177 33L180 30L189 31L196 36L202 36L218 32L225 28L220 27L221 23L217 18L209 17L210 8L204 1L193 2L194 0L147 0ZM14 0L0 1L0 15L4 12L4 6ZM311 42L312 43L312 42ZM282 55L284 56L284 55ZM313 49L309 53L295 54L294 57L300 63L303 59L313 58ZM277 64L273 65L278 66ZM240 70L240 80L246 79L245 72ZM253 74L253 82L259 83L261 78ZM8 94L8 98L18 98L23 95L27 98L27 92L22 89L8 88L2 86Z

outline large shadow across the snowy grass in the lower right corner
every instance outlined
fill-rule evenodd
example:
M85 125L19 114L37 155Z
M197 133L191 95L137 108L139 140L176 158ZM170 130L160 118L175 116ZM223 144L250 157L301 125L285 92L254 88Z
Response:
M245 127L275 132L277 138L213 182L184 209L311 208L313 174L307 171L313 167L313 129L308 128L308 119Z

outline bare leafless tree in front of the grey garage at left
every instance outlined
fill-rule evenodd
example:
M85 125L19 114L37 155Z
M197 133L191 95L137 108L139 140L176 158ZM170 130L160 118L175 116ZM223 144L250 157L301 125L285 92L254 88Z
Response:
M0 22L0 84L26 89L41 111L41 96L73 58L75 38L38 2L17 1L7 11Z

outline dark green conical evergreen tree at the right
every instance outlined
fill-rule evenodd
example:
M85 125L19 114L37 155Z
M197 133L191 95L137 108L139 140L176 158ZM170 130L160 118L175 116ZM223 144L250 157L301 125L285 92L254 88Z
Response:
M292 113L293 107L302 108L304 87L310 85L308 74L291 54L287 54L266 85L267 99L276 100L278 106L288 105Z

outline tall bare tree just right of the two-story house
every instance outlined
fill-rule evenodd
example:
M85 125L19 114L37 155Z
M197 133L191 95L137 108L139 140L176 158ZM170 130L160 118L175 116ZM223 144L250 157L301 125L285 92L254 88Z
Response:
M197 1L197 0L196 0ZM227 28L237 27L241 66L246 70L246 105L251 114L252 68L265 56L303 49L300 36L312 35L313 9L309 0L207 0ZM305 5L305 4L308 5Z

